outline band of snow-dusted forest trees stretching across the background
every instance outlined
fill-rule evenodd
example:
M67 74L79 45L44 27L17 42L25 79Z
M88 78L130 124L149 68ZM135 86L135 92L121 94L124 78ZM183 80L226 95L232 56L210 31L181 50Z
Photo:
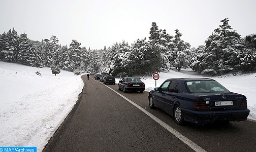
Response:
M15 29L0 34L0 60L28 66L51 67L56 74L60 69L80 74L96 71L110 75L146 75L161 70L190 67L204 75L224 74L231 71L256 69L256 34L242 38L223 19L205 45L191 48L175 29L172 36L158 28L155 22L146 37L129 45L123 41L102 50L87 50L76 40L70 46L58 44L56 36L41 42L20 36Z

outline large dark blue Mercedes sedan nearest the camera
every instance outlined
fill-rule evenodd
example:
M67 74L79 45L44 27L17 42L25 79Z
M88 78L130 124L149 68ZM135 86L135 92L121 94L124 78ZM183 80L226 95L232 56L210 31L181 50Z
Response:
M245 121L250 110L244 95L207 78L168 79L148 96L150 108L161 108L177 124Z

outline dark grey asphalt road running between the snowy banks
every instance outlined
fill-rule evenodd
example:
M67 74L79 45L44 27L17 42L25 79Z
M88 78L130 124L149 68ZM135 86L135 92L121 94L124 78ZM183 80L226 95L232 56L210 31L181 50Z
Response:
M149 108L148 92L82 79L81 98L43 151L256 151L253 121L179 126Z

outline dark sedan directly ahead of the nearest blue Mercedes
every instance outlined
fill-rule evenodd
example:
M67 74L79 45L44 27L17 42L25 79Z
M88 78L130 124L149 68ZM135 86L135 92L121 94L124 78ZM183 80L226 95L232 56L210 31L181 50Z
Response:
M145 84L138 77L124 77L118 83L118 90L126 91L139 91L145 90Z

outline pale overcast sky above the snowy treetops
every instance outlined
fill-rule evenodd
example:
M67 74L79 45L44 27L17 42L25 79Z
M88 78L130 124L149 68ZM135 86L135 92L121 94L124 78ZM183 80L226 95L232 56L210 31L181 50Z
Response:
M224 18L242 37L256 33L255 0L0 0L0 34L15 27L41 41L57 36L87 49L149 37L152 22L192 47L204 45Z

